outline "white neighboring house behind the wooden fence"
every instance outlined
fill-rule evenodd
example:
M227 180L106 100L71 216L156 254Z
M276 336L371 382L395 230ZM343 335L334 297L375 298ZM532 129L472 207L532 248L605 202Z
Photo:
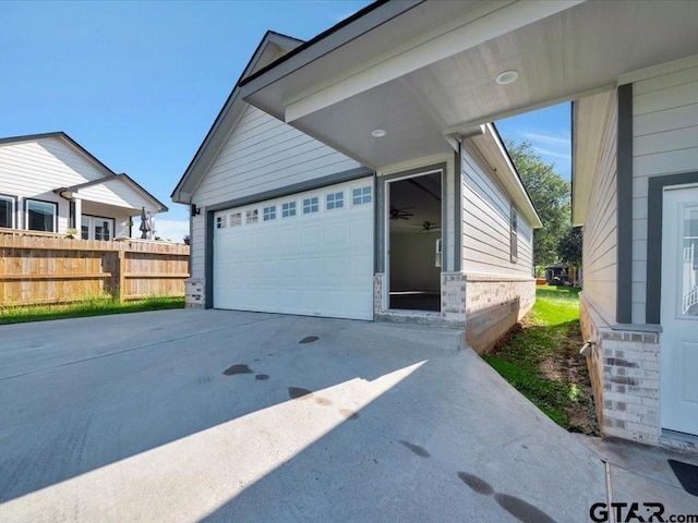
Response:
M152 231L154 215L167 207L65 133L0 138L0 228L140 238L143 210Z

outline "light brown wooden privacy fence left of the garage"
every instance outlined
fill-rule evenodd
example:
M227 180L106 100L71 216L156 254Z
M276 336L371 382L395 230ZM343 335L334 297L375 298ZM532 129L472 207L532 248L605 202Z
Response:
M183 296L189 245L0 230L0 305Z

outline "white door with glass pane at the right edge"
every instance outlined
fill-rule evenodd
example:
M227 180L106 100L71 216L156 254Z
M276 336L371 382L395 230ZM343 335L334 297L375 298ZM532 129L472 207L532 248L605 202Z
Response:
M698 435L698 187L664 192L662 428Z

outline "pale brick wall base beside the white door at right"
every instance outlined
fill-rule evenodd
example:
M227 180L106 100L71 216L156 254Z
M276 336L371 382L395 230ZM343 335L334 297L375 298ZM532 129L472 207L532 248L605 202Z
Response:
M660 335L612 328L585 293L579 316L582 336L595 342L587 365L602 434L659 445Z

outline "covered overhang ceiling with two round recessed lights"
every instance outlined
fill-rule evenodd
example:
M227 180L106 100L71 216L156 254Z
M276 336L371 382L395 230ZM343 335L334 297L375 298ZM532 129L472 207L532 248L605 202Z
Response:
M693 0L376 2L244 78L241 95L380 171L695 54L696 20ZM497 83L505 71L518 80Z

